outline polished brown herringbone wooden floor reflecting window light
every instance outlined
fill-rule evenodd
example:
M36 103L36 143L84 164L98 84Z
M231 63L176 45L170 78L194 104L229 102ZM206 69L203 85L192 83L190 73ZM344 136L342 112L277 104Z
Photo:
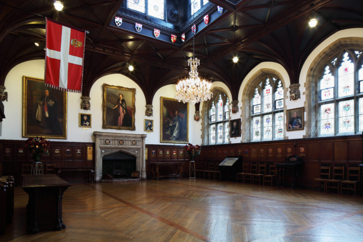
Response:
M363 241L363 197L212 180L77 183L62 231L25 234L28 197L0 241Z

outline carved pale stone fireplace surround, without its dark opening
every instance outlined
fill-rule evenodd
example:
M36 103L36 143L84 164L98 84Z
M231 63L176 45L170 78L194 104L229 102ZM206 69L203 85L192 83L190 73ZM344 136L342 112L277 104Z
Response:
M103 156L122 152L135 156L136 170L140 178L146 179L145 168L145 138L146 135L134 133L93 132L95 138L95 180L102 179Z

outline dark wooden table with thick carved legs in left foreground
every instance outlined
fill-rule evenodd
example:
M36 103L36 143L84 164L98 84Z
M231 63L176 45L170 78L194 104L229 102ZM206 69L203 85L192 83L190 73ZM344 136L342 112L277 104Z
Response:
M56 174L23 175L22 188L29 194L27 233L61 230L63 193L70 184Z

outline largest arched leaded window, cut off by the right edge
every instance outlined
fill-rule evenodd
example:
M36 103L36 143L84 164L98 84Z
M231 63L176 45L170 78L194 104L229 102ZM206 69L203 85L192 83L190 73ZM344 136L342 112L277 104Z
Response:
M353 135L363 131L361 50L344 50L323 66L317 82L317 136ZM314 113L313 113L314 114Z

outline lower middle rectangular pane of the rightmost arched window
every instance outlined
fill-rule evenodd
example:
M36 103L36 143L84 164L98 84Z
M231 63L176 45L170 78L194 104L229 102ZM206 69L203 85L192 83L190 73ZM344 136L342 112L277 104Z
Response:
M339 106L339 132L354 132L354 100L341 101Z

